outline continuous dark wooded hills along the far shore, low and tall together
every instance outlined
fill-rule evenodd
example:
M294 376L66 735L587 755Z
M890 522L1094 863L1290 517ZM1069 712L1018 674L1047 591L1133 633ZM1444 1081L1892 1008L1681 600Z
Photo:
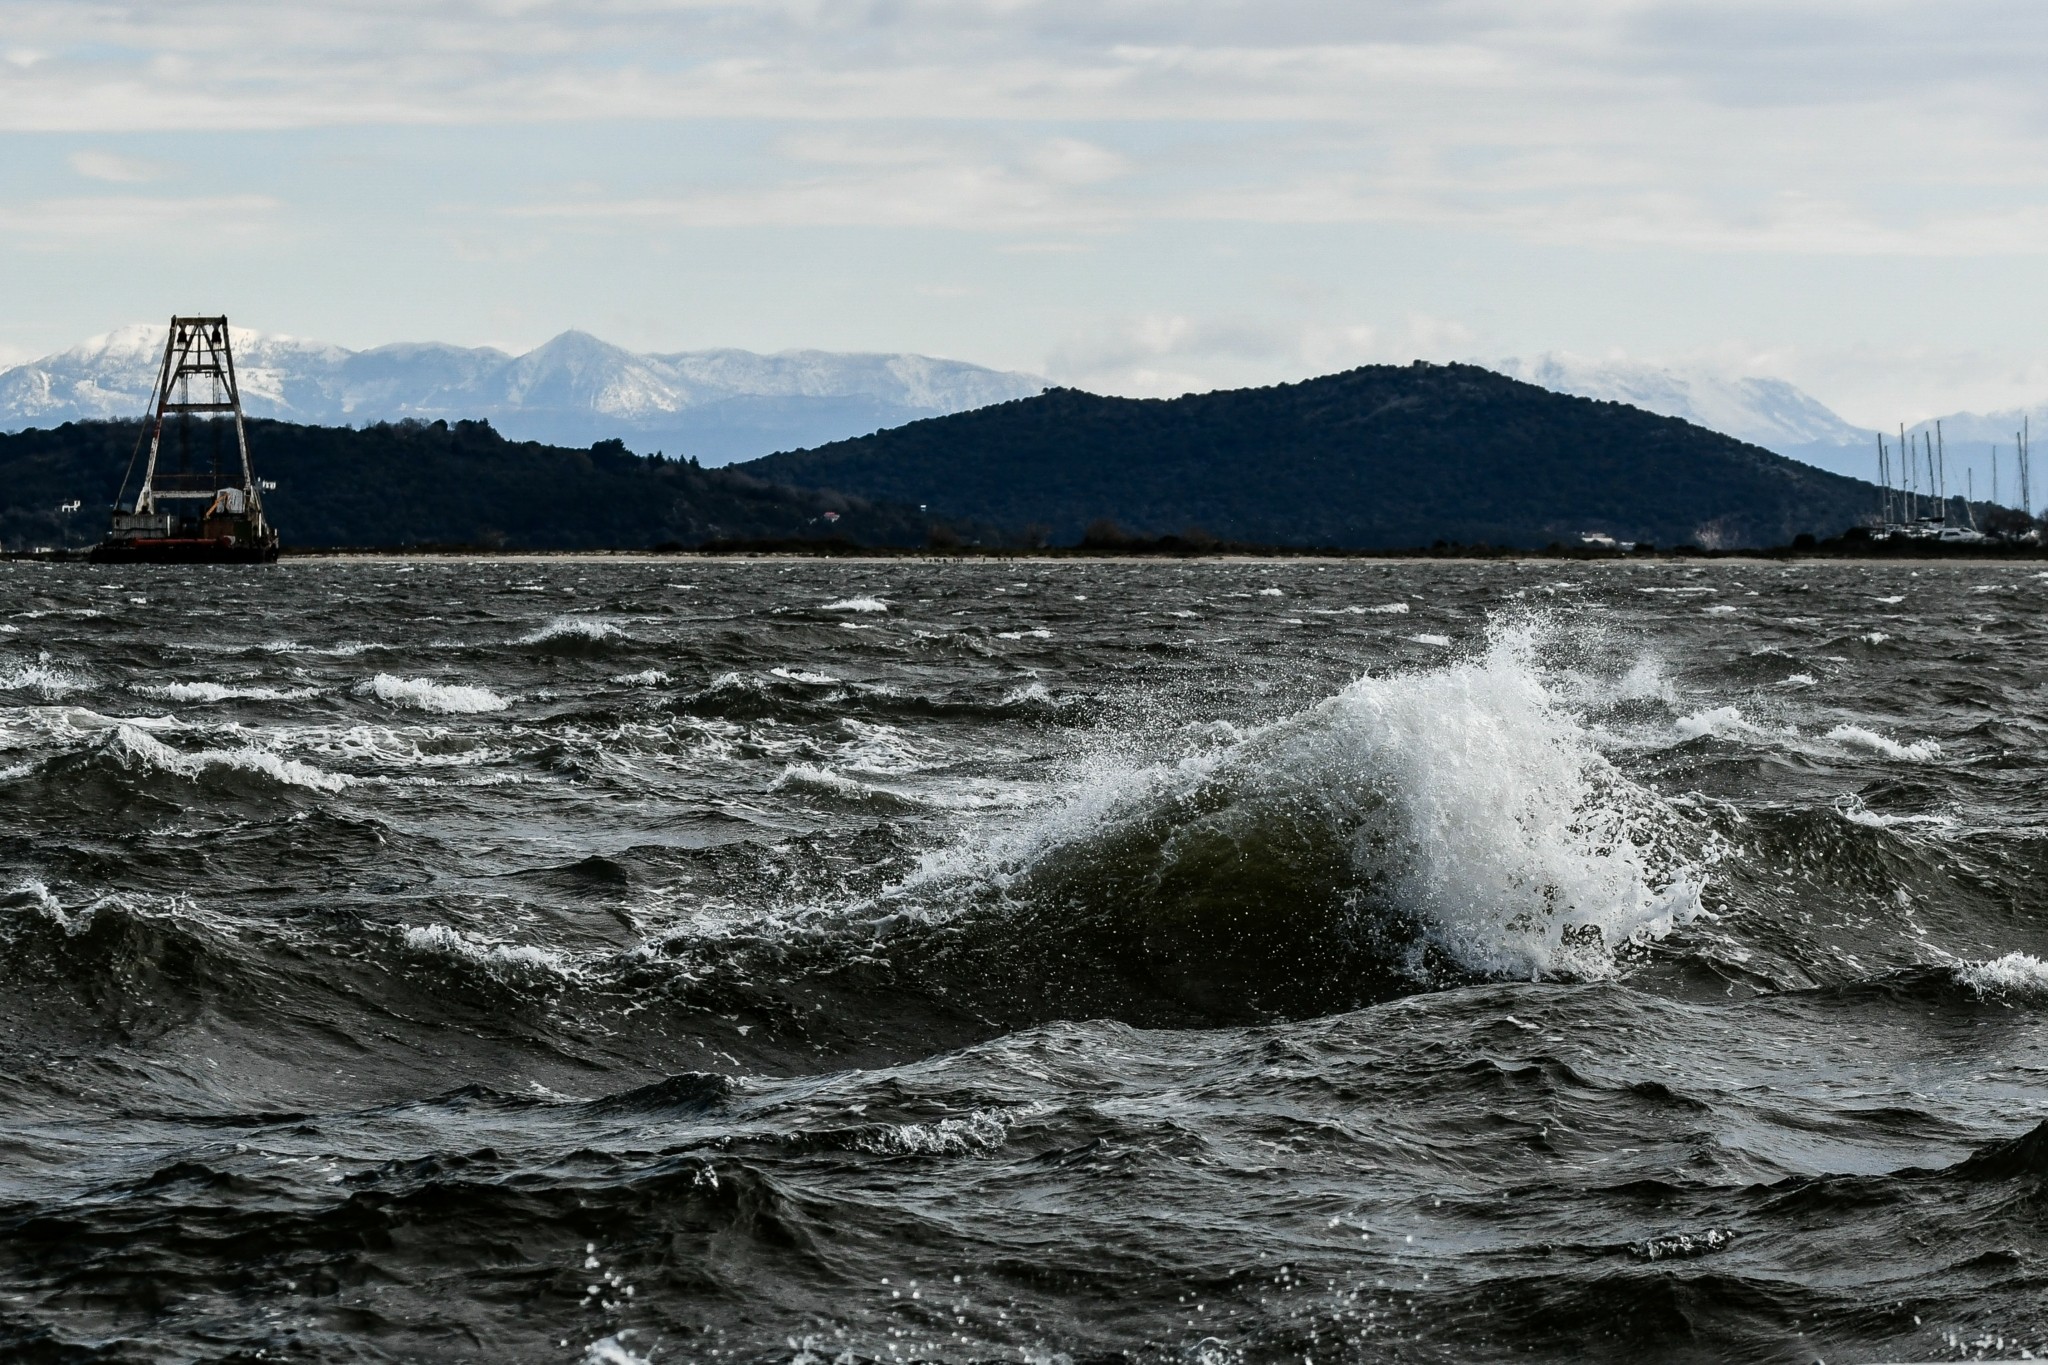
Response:
M137 430L76 422L0 436L0 542L94 540ZM1470 364L1180 399L1053 389L727 469L643 458L616 440L508 442L485 422L348 430L258 417L248 436L291 546L1073 544L1114 522L1276 546L1542 546L1608 532L1735 548L1833 534L1878 505L1868 483ZM223 438L180 424L168 458L203 467ZM1102 530L1098 540L1116 538Z

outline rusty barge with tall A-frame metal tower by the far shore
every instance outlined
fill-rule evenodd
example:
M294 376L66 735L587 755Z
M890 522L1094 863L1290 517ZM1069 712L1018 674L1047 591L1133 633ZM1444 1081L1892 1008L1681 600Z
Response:
M129 479L137 463L143 473L131 503ZM113 526L92 548L92 563L272 563L279 540L262 514L262 495L274 487L250 465L227 319L172 317L152 411L121 477Z

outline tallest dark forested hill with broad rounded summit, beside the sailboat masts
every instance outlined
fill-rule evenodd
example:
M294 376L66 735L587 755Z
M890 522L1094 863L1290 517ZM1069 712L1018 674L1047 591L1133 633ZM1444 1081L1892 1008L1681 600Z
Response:
M1053 542L1112 518L1251 544L1753 546L1878 508L1874 485L1675 417L1423 362L1180 399L1053 389L735 469Z

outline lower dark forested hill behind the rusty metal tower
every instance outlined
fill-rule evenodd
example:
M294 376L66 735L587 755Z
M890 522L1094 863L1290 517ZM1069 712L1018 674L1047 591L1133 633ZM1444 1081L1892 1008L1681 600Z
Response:
M98 540L137 430L135 422L72 422L0 436L0 546ZM926 538L915 508L643 458L618 442L588 450L510 442L485 422L401 422L358 432L256 420L248 424L248 440L258 477L276 481L264 508L287 546L647 548L756 538L848 536L868 544ZM184 452L203 467L213 458L213 432L193 432ZM170 434L164 458L178 456ZM84 505L59 512L72 499Z

